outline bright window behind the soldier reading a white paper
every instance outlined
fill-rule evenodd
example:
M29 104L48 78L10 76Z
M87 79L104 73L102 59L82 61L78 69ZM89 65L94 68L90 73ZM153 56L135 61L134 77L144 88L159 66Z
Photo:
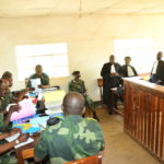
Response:
M35 72L42 65L50 78L69 77L67 44L21 45L15 47L19 81Z

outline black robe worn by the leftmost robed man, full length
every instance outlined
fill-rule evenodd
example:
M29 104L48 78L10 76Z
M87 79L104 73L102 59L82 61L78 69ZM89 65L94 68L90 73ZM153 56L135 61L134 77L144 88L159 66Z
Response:
M110 69L112 69L110 62L104 63L101 75L103 77L103 101L104 104L106 104L109 108L112 105L110 99L110 89L112 87L118 87L120 84L120 77L110 77ZM117 62L114 63L115 70L117 73L121 73L121 66Z

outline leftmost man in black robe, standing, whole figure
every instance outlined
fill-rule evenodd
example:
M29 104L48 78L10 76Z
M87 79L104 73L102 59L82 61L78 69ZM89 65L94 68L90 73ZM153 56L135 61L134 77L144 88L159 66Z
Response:
M112 91L113 87L118 87L120 84L121 67L115 62L115 56L109 56L109 62L104 63L101 75L103 77L103 102L107 105L109 114L113 114Z

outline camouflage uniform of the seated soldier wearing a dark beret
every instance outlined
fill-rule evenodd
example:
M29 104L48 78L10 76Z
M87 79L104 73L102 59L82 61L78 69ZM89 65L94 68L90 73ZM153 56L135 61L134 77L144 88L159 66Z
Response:
M85 91L86 91L86 87L85 87L85 84L84 84L83 80L78 80L78 81L72 80L69 83L69 92L79 92L79 93L81 93L85 98L86 106L89 108L91 108L92 110L95 110L94 102L87 95L84 94Z

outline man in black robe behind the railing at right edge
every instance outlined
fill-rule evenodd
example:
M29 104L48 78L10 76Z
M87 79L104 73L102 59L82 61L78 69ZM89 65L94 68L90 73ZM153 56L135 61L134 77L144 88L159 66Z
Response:
M163 52L159 51L156 55L156 61L154 61L151 71L150 82L164 84L164 61L162 60L162 58L163 58Z

